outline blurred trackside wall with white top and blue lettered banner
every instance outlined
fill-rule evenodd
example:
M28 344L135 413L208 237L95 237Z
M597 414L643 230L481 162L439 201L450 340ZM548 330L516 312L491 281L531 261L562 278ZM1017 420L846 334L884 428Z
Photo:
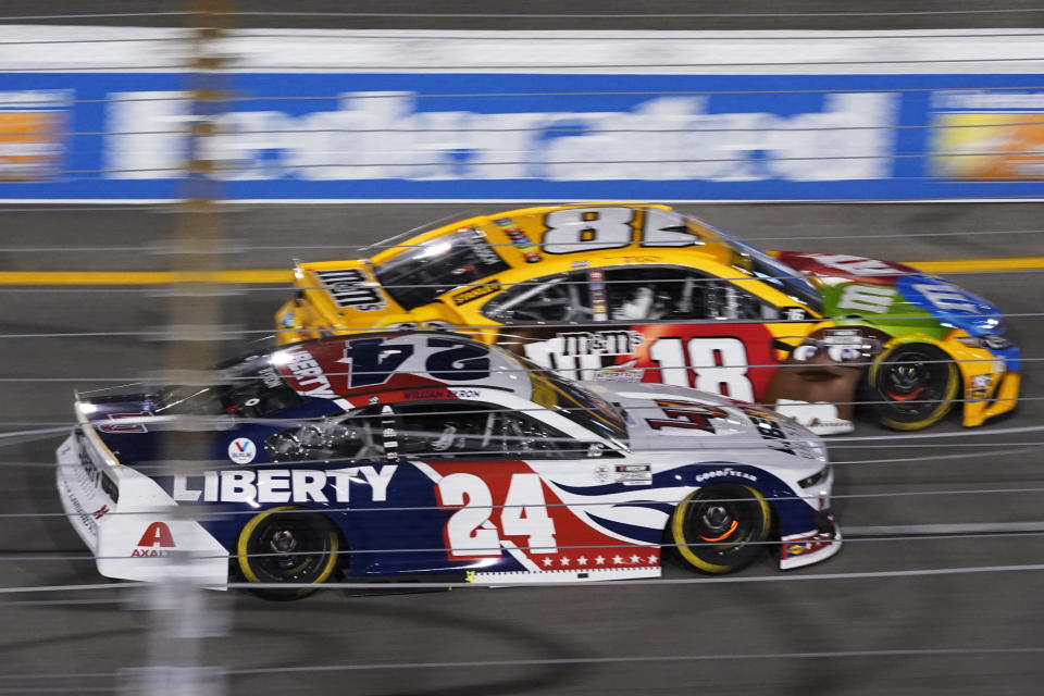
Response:
M4 27L4 35L17 29ZM73 27L47 27L48 36L59 29ZM107 45L107 53L66 49L59 60L34 46L0 74L0 199L179 196L194 108L189 75L173 51L181 35L128 32L113 36L123 42ZM813 40L830 36L807 33L745 33L758 36L724 48L720 36L673 33L667 50L627 33L536 45L534 34L456 34L297 30L228 39L224 114L208 146L223 195L1044 197L1044 82L1030 69L1044 55L1028 48L1040 37L1030 30L950 39L863 33L843 50ZM87 41L78 28L74 36L62 41ZM502 58L481 65L498 36ZM709 48L693 54L699 40ZM569 51L555 52L564 45ZM396 53L396 46L412 52ZM619 54L613 46L623 47ZM940 47L948 52L940 55ZM139 54L151 58L136 63ZM430 59L418 64L424 54ZM924 67L934 72L918 72Z

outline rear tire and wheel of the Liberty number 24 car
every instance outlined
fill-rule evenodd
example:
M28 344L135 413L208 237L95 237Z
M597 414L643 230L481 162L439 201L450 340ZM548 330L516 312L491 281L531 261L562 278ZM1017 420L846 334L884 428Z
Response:
M287 601L307 597L333 575L340 536L322 512L284 506L250 518L239 532L236 551L239 571L248 582L295 586L251 592Z

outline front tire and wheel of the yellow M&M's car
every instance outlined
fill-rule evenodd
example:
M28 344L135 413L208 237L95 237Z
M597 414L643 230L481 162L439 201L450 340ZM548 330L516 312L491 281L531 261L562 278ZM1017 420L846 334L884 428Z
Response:
M943 420L954 408L960 371L937 346L900 344L873 362L867 383L869 400L873 401L870 408L881 425L919 431Z

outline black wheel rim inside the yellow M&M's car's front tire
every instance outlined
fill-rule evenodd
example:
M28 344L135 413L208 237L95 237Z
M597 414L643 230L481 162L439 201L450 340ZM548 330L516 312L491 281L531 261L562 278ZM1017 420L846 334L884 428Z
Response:
M881 395L903 420L921 420L930 415L945 398L949 382L949 363L919 350L895 353L879 381Z

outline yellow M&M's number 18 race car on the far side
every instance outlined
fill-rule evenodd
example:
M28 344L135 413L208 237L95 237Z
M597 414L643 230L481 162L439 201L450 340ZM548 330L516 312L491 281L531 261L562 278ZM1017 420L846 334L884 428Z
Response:
M294 282L279 343L453 328L573 378L695 387L819 433L850 430L857 401L918 430L959 401L980 425L1019 394L1019 350L971 293L888 261L765 252L666 206L470 217Z

